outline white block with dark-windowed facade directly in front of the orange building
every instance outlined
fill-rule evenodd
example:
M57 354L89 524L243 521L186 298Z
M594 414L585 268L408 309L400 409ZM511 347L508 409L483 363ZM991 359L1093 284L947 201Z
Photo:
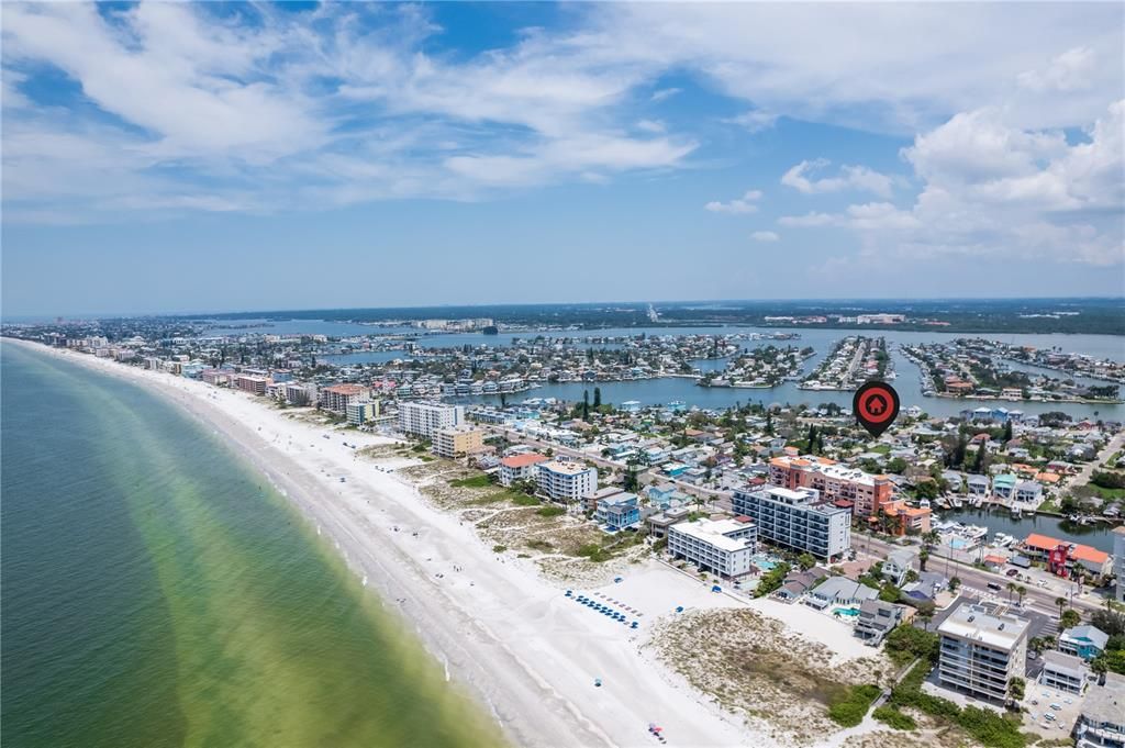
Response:
M758 525L758 538L834 560L852 546L852 511L824 501L814 488L736 490L736 514Z

